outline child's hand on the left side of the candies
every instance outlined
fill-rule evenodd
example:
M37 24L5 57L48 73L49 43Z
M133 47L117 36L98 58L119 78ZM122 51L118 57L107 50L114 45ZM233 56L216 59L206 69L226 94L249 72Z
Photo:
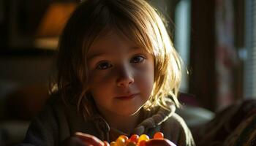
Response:
M109 146L108 142L102 142L97 137L81 132L75 133L75 136L69 137L63 144L64 146Z

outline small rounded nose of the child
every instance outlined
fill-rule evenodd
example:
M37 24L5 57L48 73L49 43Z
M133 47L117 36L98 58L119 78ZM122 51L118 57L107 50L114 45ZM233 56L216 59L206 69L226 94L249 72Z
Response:
M122 67L118 70L118 77L116 80L116 84L118 85L118 87L128 87L134 82L134 77L131 69L129 69L128 67Z

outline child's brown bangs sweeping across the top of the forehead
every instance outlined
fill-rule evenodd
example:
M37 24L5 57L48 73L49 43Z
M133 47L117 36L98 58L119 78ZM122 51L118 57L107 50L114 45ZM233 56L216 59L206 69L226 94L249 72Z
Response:
M139 47L145 49L148 53L153 54L154 49L149 30L146 24L142 23L145 20L141 14L129 14L129 9L112 9L109 5L102 6L100 11L95 10L90 20L91 26L89 30L91 33L87 34L84 39L84 46L87 49L98 39L105 37L108 34L116 33L134 42ZM127 15L129 14L129 15ZM88 51L88 50L87 50Z

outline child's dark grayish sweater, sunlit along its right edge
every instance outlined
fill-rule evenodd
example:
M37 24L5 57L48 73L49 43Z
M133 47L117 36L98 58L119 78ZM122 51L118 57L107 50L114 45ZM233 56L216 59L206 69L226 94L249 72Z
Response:
M153 137L155 132L161 131L166 139L170 139L178 146L195 145L186 123L175 113L175 106L170 106L171 111L162 107L151 111L143 110L143 119L145 120L135 128L132 134L147 134L149 137ZM98 113L95 113L92 118L84 120L83 115L77 112L75 105L64 105L59 97L52 97L42 112L32 120L26 138L19 146L61 145L64 139L78 131L94 135L108 142L110 137L115 137L113 133L117 133L116 136L123 134L121 131L113 132ZM118 132L120 133L118 134Z

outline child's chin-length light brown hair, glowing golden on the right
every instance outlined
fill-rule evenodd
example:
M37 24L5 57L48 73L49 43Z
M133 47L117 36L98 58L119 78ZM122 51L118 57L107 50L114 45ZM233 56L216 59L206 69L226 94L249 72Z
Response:
M154 87L144 108L169 108L167 101L178 107L180 57L156 9L144 0L84 0L78 5L59 40L57 85L64 101L77 102L85 117L94 113L86 57L91 44L112 31L154 56Z

